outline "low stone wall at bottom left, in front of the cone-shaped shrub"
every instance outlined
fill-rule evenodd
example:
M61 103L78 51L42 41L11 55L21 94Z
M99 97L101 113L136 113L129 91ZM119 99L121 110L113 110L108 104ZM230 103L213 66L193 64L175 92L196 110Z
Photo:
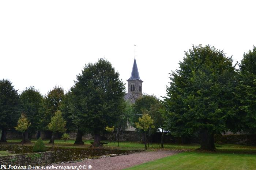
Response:
M35 166L45 165L54 161L54 152L15 154L0 157L0 165Z

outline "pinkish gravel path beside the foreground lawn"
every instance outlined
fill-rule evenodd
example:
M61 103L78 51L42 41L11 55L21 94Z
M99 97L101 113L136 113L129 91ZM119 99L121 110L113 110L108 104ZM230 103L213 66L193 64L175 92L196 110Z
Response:
M86 169L88 166L91 165L91 169L93 170L119 170L124 169L127 167L131 167L134 165L138 165L144 162L153 161L155 159L167 157L169 155L176 154L177 151L166 151L166 150L158 150L158 151L151 151L151 152L140 152L128 155L121 155L116 157L107 157L107 158L99 158L99 159L92 159L86 160L82 162L76 163L65 163L61 165L54 165L56 166L77 166L79 165L86 165ZM81 168L80 170L83 170Z

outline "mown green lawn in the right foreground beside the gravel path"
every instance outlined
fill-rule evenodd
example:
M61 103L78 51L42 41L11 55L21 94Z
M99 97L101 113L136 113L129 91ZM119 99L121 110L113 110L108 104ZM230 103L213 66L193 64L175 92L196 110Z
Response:
M256 154L183 152L128 169L256 169L255 162Z

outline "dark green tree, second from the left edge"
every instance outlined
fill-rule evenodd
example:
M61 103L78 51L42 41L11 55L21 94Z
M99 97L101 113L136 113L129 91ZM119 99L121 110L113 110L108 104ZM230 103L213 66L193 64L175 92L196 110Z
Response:
M26 88L20 95L20 109L26 114L27 120L30 122L29 128L24 133L23 142L30 142L29 138L38 130L42 95L34 87Z

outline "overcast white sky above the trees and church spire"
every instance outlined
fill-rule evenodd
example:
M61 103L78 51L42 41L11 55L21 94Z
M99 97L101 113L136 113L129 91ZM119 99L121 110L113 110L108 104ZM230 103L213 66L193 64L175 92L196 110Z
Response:
M0 79L21 92L68 90L84 64L105 57L126 83L134 44L143 92L166 95L169 72L192 44L240 62L256 45L256 1L1 0Z

